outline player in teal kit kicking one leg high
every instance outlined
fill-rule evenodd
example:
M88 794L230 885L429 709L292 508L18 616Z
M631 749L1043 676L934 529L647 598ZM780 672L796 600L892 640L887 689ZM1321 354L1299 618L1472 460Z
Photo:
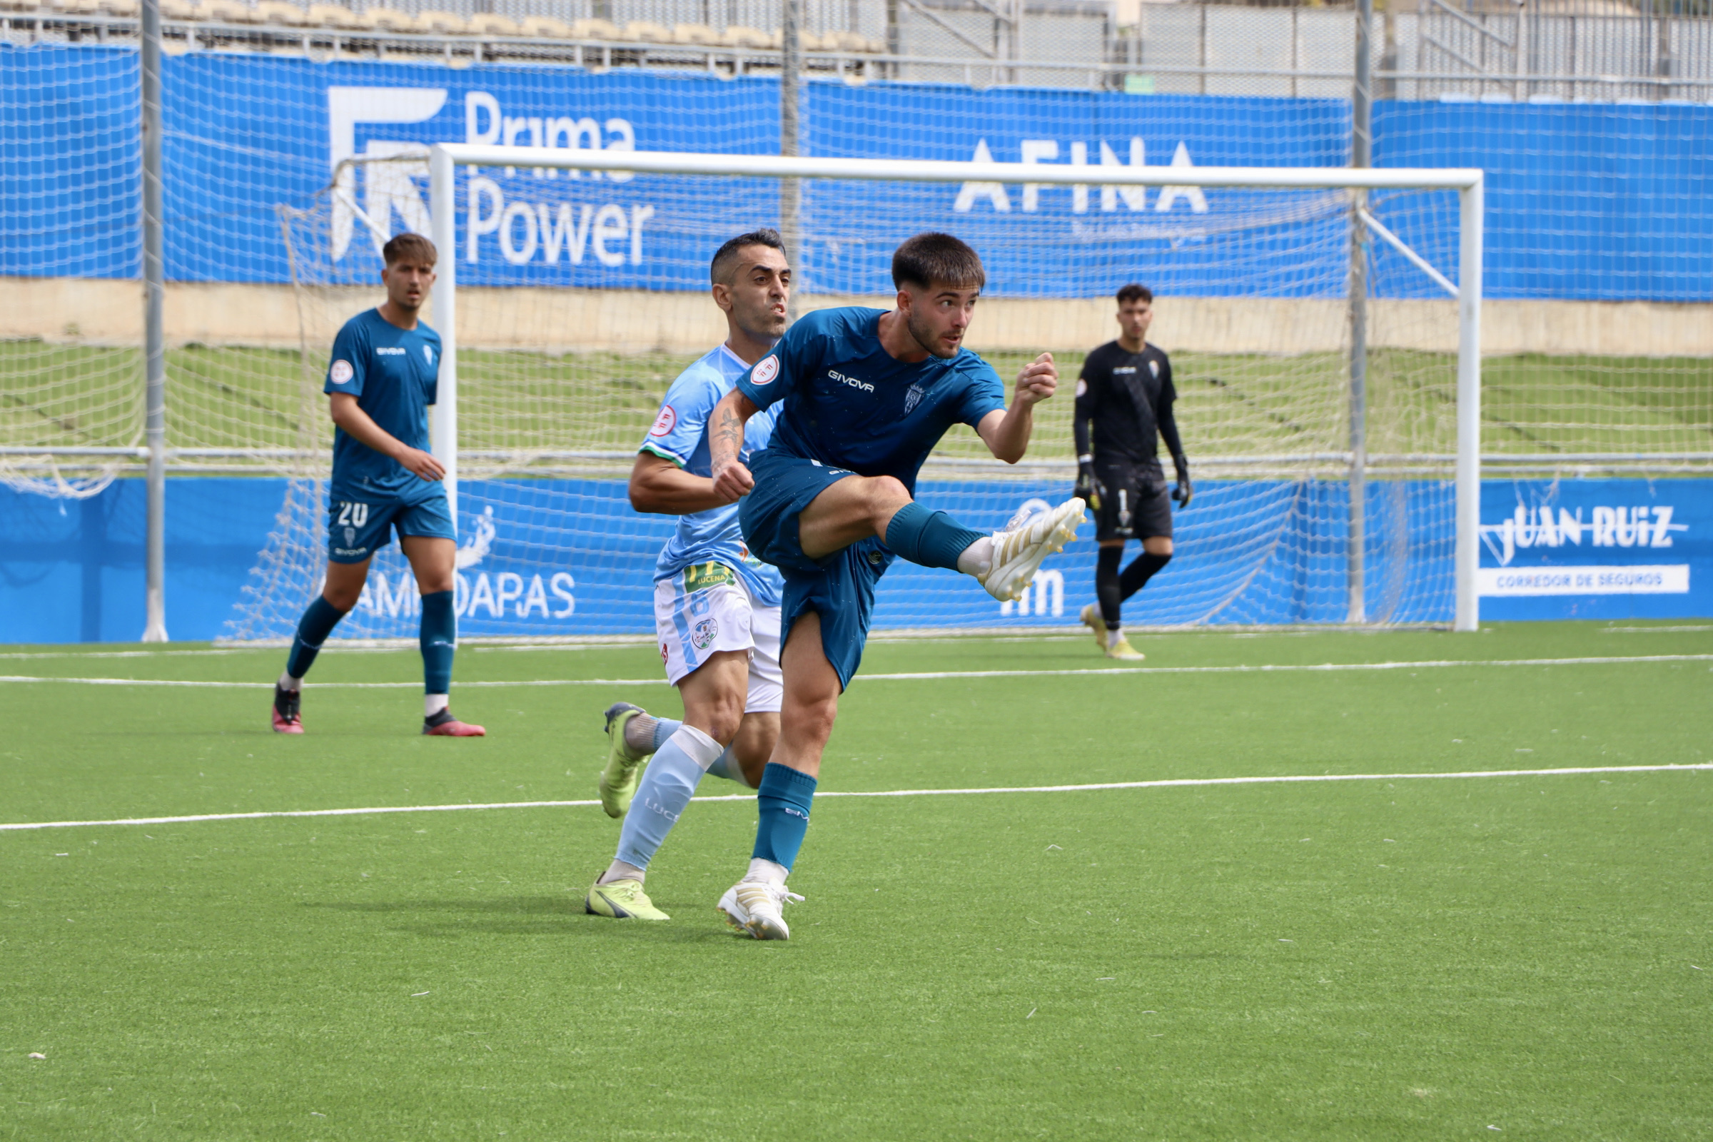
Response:
M951 235L925 233L892 253L898 308L846 306L802 317L714 409L714 491L743 497L750 550L785 574L785 700L757 794L749 873L719 899L757 940L790 938L785 887L833 733L839 693L862 659L874 589L894 556L973 575L1016 599L1042 560L1076 538L1083 500L985 536L913 498L922 462L952 425L1016 464L1035 404L1059 384L1052 354L1018 375L1006 407L999 373L963 348L987 272ZM743 425L783 404L766 450L742 459Z

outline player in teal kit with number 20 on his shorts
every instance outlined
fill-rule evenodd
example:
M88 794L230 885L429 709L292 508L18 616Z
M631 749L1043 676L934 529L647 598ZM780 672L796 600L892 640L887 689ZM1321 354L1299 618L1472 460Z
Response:
M440 334L418 313L433 286L435 248L421 235L397 235L382 248L387 300L344 324L327 366L332 481L327 493L327 582L291 640L286 671L274 683L274 729L303 733L303 675L368 580L375 551L399 534L421 592L423 733L480 738L481 726L452 717L452 575L457 532L428 454L428 406L440 377Z

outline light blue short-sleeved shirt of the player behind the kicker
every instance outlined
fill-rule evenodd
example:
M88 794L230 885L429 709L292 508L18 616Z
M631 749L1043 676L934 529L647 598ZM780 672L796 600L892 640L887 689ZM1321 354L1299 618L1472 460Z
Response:
M660 416L654 418L654 426L649 428L648 440L639 450L665 457L692 476L713 476L707 418L747 368L749 365L721 344L678 373L678 380L671 382L671 389L666 390ZM767 411L752 416L743 425L740 459L747 462L752 452L767 447L774 419L778 419L778 413ZM654 580L671 579L695 563L730 567L743 579L757 603L779 606L783 591L779 572L749 553L743 531L738 527L737 503L680 515L678 529L661 548L660 560L654 563Z

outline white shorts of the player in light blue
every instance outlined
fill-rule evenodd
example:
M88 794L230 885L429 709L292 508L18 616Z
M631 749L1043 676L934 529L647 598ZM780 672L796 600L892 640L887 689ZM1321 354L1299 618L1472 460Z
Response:
M779 675L779 608L759 606L743 580L723 563L695 563L654 582L654 633L666 681L685 675L719 651L749 651L750 712L778 712L785 692Z

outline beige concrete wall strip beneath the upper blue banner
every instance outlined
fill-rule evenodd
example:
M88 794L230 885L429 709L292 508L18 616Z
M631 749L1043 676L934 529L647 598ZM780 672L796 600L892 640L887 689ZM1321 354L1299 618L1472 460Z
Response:
M310 337L325 342L344 317L382 300L379 289L303 294ZM624 289L464 289L468 348L529 348L552 353L695 353L725 337L725 322L697 293L641 294ZM805 298L810 308L891 298ZM1345 346L1345 305L1278 298L1160 298L1151 339L1172 351L1336 353ZM168 284L168 344L296 348L298 296L289 286ZM1713 356L1713 305L1648 301L1489 301L1482 349L1607 356ZM430 324L433 315L428 315ZM1113 303L1096 300L987 298L970 344L975 349L1083 349L1117 332ZM130 281L0 277L0 339L140 344L142 288ZM1376 346L1453 351L1453 301L1376 301Z

